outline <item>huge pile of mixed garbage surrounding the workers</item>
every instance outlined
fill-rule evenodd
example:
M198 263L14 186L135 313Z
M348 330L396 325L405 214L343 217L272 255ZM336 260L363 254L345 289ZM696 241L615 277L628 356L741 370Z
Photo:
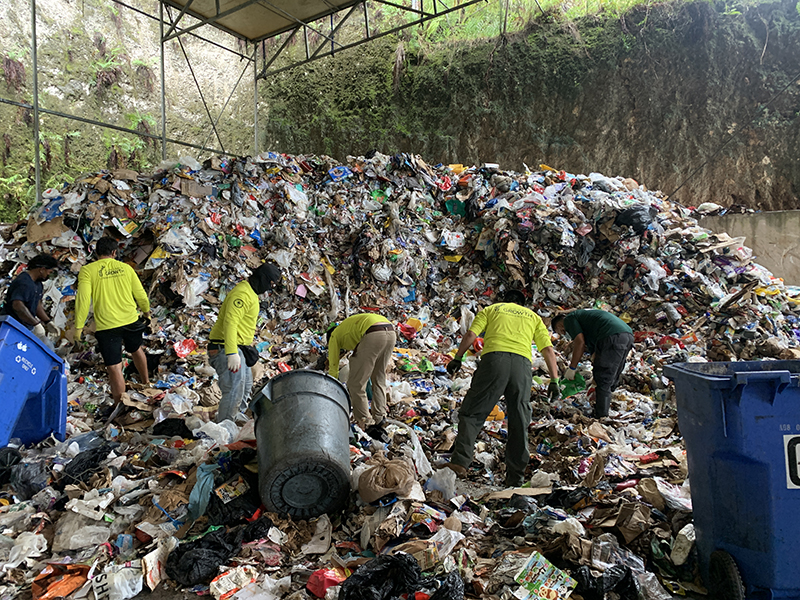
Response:
M755 263L743 239L699 227L699 214L631 179L380 153L344 165L272 152L184 158L47 190L26 223L0 230L0 259L9 276L41 252L68 267L45 287L71 367L68 435L0 469L2 597L31 587L34 598L114 600L144 586L293 600L702 591L661 369L800 357L800 288ZM72 344L77 273L109 233L153 306L152 387L130 389L110 422L100 357ZM311 521L262 507L253 421L214 422L208 332L225 294L264 260L283 285L262 301L256 381L319 368L325 328L350 314L397 325L388 442L353 428L348 506ZM637 342L603 422L586 416L581 386L548 402L535 361L529 482L510 490L495 485L502 402L468 479L442 468L477 356L456 379L444 365L508 288L546 319L609 310ZM590 379L588 361L580 372Z

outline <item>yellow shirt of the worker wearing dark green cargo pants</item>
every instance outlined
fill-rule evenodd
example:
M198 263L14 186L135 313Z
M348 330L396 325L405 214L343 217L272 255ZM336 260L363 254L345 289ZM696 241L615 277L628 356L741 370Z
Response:
M531 342L539 352L552 346L550 332L541 317L529 308L510 302L487 306L472 321L469 330L475 335L486 332L483 354L513 352L531 360Z

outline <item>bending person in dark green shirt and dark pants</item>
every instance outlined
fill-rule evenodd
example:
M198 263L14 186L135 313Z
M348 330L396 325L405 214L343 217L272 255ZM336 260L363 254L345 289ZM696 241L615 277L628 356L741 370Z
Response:
M575 378L584 351L592 355L595 383L594 416L608 416L611 393L619 384L625 360L633 348L633 331L619 317L604 310L574 310L557 315L550 323L553 331L572 340L572 357L564 373Z

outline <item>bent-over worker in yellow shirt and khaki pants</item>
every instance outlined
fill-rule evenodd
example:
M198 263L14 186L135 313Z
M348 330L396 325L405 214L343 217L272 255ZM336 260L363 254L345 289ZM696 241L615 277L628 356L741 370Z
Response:
M397 337L389 319L372 313L347 317L328 328L328 373L339 377L341 351L352 350L347 391L353 419L371 437L380 439L386 418L386 369ZM372 409L367 401L367 382L372 379Z

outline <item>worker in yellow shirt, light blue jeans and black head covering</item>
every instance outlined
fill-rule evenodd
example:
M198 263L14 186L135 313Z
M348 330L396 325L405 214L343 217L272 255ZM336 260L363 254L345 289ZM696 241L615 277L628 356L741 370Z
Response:
M252 347L258 322L258 296L280 280L281 272L276 265L263 264L230 291L219 309L208 336L208 359L219 376L222 392L217 423L243 418L253 388L250 367L258 361L258 353Z

